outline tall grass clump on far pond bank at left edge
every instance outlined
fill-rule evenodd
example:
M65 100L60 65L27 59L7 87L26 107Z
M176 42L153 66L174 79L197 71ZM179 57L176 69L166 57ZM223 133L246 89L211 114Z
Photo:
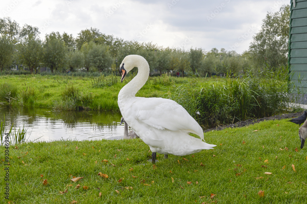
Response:
M6 105L11 105L17 101L18 89L17 87L9 84L0 84L0 102Z

